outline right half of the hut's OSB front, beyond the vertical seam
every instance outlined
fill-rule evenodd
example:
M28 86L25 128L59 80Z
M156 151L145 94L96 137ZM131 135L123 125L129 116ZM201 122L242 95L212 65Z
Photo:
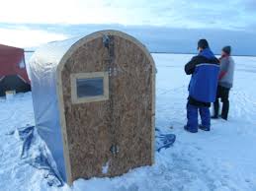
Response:
M134 43L109 36L111 175L152 163L153 70Z

